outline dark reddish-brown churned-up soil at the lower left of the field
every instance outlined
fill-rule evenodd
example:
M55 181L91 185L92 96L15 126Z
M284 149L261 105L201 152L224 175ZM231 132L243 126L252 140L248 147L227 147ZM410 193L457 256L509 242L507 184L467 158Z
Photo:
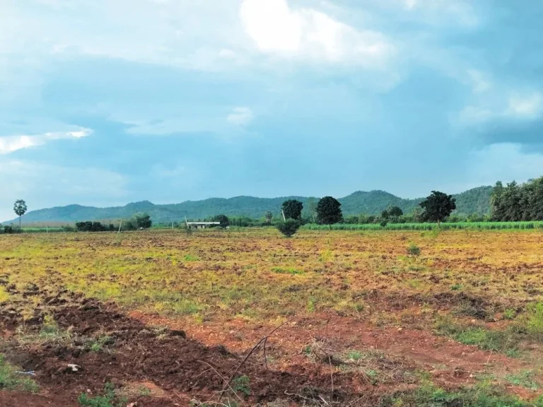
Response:
M37 382L50 397L24 396L18 406L70 406L66 399L75 401L85 391L100 394L106 382L122 385L123 382L150 381L169 399L153 401L146 398L144 406L186 405L182 394L191 394L206 400L216 395L229 378L238 370L243 358L229 353L222 346L204 346L201 342L186 338L183 331L156 331L136 319L118 312L113 306L105 306L95 300L79 300L77 305L62 305L52 308L54 319L62 329L71 329L78 336L97 336L106 333L110 350L90 352L81 348L81 343L21 347L12 358L24 370L34 370ZM15 341L11 337L10 341ZM78 365L74 371L69 365ZM333 389L329 373L321 371L321 365L299 365L288 371L267 370L262 356L251 358L236 377L245 375L250 379L248 405L262 401L286 399L286 394L311 394L317 399L324 396L346 402L354 395L352 389L361 389L361 384L349 373L334 374ZM57 392L62 389L62 399ZM48 391L48 392L47 392ZM368 384L366 396L375 392ZM0 396L0 405L7 406L11 400L23 397L18 394ZM296 401L296 396L291 399ZM185 400L185 401L182 401ZM17 405L17 404L16 404Z

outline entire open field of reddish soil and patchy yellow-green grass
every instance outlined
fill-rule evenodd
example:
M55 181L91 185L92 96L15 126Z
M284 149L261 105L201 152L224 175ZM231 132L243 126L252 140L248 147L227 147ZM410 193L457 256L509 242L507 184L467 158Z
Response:
M3 407L541 407L543 231L0 235L0 334Z

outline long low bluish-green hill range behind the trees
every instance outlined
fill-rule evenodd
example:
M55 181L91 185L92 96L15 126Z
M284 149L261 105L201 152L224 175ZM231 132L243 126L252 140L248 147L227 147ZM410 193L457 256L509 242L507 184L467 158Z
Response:
M457 211L455 213L464 215L489 213L491 191L492 187L479 187L455 195L457 200ZM286 199L298 199L305 204L310 198L304 196L282 196L279 198L236 196L230 199L211 198L203 201L185 201L181 204L169 205L155 205L149 201L141 201L112 208L69 205L30 211L23 217L23 222L73 223L80 220L115 220L129 218L137 212L148 213L155 223L182 220L185 216L188 219L203 219L218 214L261 218L264 216L265 211L271 211L278 216L279 208ZM410 213L419 205L422 198L402 199L385 191L357 191L339 199L339 201L346 216L358 215L359 213L377 215L389 206L399 206L404 213ZM16 220L13 220L13 223L15 222ZM9 221L5 223L9 223Z

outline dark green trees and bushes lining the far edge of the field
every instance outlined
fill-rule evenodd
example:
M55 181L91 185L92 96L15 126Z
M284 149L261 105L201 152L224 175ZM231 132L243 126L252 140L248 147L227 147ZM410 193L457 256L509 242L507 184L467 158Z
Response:
M306 202L305 217L303 203L296 199L288 199L281 206L280 218L274 219L271 211L264 213L264 221L255 220L246 216L217 215L207 218L209 221L220 222L221 228L232 226L271 226L284 232L285 235L293 235L300 225L304 223L318 223L321 225L332 225L334 223L419 223L444 221L474 221L481 222L493 220L498 222L525 221L525 220L543 220L543 177L530 179L524 184L510 182L505 187L502 182L496 182L491 194L491 216L469 216L463 218L452 215L456 209L455 198L452 195L440 191L432 191L431 195L426 197L412 213L404 214L398 206L392 206L385 209L378 216L366 216L361 213L359 216L348 216L344 218L341 212L341 203L332 196L325 196L319 201L311 200ZM18 199L13 204L13 211L19 218L18 230L21 230L21 218L28 210L23 199ZM139 230L151 228L151 217L146 213L136 213L127 220L122 220L123 230ZM181 226L182 223L175 223L175 226ZM2 230L3 229L3 230ZM98 232L106 230L116 230L112 224L103 225L100 222L78 222L76 230L81 232ZM13 225L5 225L0 232L16 232Z

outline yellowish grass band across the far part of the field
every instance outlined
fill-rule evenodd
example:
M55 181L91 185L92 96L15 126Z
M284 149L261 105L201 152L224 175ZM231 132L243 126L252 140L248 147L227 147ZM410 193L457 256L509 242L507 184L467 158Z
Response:
M511 307L543 298L542 237L538 231L306 231L293 239L275 230L17 235L0 237L0 268L21 289L36 282L204 320L300 310L360 315L373 306L367 297L375 292L405 301L464 293ZM407 254L411 243L420 256Z

